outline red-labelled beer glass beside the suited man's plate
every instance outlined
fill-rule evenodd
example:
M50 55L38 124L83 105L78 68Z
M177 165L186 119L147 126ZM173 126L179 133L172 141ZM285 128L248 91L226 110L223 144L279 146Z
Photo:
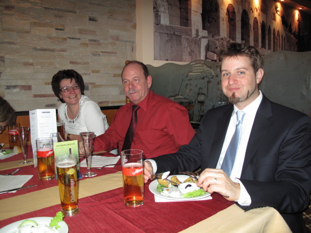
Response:
M144 166L142 150L121 152L124 204L129 207L144 203Z

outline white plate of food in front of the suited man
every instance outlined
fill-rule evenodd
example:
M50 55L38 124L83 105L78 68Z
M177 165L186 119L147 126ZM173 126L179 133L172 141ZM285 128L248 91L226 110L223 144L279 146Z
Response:
M179 183L178 187L168 181L158 179L149 184L149 190L155 196L169 200L198 200L210 196L208 192L196 186L196 181L187 175L172 175L167 179Z

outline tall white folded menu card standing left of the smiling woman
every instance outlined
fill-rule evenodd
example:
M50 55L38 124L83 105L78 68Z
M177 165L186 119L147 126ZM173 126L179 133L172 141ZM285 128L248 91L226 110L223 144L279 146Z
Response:
M31 144L34 154L34 166L37 166L37 149L35 139L50 137L50 133L57 132L56 109L36 109L29 111Z

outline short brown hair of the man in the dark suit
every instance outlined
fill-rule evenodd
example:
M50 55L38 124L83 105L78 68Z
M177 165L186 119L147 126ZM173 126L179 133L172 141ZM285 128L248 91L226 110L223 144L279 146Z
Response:
M244 56L251 60L251 65L254 69L255 74L259 68L263 67L263 59L259 51L250 45L231 43L225 50L219 53L220 70L222 67L222 61L227 57Z

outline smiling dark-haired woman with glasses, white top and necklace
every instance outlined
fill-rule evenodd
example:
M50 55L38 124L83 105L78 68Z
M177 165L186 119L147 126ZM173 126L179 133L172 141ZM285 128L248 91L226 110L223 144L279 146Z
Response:
M94 132L99 136L109 127L97 103L84 96L84 81L77 71L58 71L52 78L52 89L62 102L58 116L65 122L65 140L81 141L80 132Z

